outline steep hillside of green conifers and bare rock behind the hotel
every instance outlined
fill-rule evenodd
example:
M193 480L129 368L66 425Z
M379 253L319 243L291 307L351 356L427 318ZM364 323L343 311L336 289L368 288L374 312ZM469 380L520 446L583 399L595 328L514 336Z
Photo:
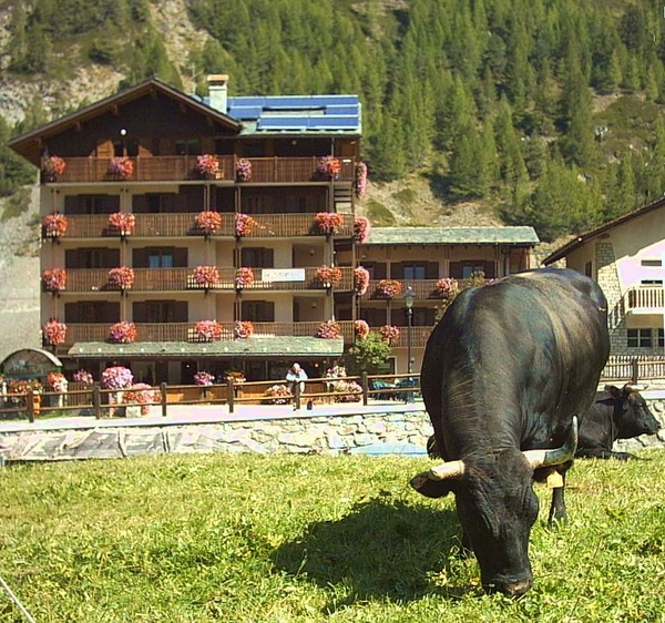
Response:
M0 94L2 143L150 75L203 94L228 73L233 95L359 93L374 181L417 174L441 210L544 241L665 191L665 18L646 0L4 0L0 29L1 93L49 94L17 120ZM2 147L1 193L32 175Z

